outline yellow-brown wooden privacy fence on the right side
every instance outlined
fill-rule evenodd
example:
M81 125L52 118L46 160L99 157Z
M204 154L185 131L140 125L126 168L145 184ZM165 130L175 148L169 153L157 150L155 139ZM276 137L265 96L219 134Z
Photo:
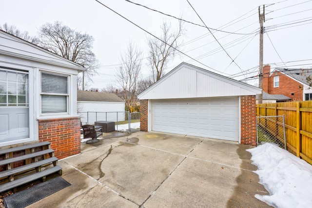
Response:
M312 101L263 103L257 116L285 116L287 150L312 165Z

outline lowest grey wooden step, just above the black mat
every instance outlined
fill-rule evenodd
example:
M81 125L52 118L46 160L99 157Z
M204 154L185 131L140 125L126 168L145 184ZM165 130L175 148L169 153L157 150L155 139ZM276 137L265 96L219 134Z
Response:
M17 188L20 185L27 184L27 183L34 181L34 180L37 180L39 178L42 178L42 180L45 181L45 176L50 175L50 174L55 173L55 172L58 172L59 175L61 175L62 174L61 171L62 171L62 168L60 166L55 166L55 167L52 167L52 168L49 168L46 170L42 170L40 172L36 172L34 174L31 174L31 175L21 177L19 179L14 180L14 181L11 181L11 182L8 182L5 184L1 184L0 185L0 192L6 191L9 189ZM16 192L16 191L14 191L14 192Z

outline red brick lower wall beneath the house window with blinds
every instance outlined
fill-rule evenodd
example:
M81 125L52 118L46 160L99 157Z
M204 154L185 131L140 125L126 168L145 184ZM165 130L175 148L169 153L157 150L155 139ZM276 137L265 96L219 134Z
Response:
M51 142L59 159L80 153L80 117L39 120L39 141Z

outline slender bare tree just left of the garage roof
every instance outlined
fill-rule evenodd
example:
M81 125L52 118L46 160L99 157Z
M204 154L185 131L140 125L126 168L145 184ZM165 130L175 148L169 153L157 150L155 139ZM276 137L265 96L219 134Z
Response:
M129 43L127 52L121 57L122 65L117 69L116 78L125 94L125 100L133 101L141 70L142 52ZM131 102L130 101L130 102Z

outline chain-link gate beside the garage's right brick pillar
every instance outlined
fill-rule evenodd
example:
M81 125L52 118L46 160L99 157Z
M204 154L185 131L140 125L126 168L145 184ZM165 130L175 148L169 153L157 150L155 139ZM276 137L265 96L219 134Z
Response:
M257 116L257 145L274 143L286 150L284 115Z

